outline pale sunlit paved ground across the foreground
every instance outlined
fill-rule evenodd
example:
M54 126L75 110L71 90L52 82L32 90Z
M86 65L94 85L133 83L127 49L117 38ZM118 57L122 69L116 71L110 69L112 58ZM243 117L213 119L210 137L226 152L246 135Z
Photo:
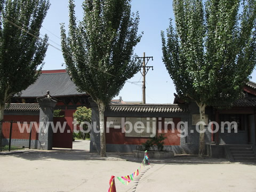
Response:
M97 154L86 150L86 144L74 142L74 150L33 150L0 156L0 191L107 191L111 175L130 174L140 165L129 154L108 154L105 160L109 161L98 160ZM182 156L169 163L153 162L127 186L116 180L116 189L255 192L255 181L255 164Z

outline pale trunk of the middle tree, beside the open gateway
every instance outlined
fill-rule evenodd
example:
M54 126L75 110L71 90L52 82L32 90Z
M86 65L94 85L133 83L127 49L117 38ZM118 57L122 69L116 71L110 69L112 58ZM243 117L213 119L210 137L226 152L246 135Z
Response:
M98 103L100 117L100 156L106 157L106 134L105 134L105 104L102 101Z

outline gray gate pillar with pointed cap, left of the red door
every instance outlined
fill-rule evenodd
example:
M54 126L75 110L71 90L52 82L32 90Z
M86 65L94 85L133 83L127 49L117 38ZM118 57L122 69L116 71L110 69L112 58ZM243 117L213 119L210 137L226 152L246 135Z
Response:
M36 100L40 106L38 149L51 150L53 138L53 109L58 100L52 97L49 91L47 91L46 95L36 98Z

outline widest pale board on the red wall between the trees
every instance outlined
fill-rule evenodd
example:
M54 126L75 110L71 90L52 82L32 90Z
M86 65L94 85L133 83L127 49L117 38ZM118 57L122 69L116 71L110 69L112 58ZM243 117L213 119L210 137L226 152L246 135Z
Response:
M126 117L125 137L154 137L156 118Z

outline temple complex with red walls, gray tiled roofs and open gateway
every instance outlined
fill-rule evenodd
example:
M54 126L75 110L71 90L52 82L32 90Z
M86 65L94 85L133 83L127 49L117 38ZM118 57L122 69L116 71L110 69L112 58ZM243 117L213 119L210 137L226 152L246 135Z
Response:
M79 92L66 70L43 70L34 84L20 95L15 95L12 103L6 105L4 121L45 122L48 108L42 104L42 98L49 99L46 102L50 106L49 113L53 112L51 107L52 110L61 109L60 115L63 117L54 117L54 123L67 122L63 133L57 132L43 138L44 143L49 140L50 147L47 149L72 148L73 113L77 107L86 106L92 108L90 151L100 151L98 106L89 94ZM171 148L175 154L198 154L198 121L199 108L196 103L185 102L177 95L173 104L141 104L119 98L111 101L105 111L106 149L107 152L131 152L149 138L163 134L164 146ZM237 127L229 130L228 125L224 124L223 129L216 132L214 125L208 126L205 131L206 155L226 157L230 161L256 161L256 83L246 83L243 97L229 108L206 107L205 124L213 121L220 125L221 122L236 122ZM139 132L134 130L138 122L143 123ZM38 133L31 138L34 148L42 147Z

